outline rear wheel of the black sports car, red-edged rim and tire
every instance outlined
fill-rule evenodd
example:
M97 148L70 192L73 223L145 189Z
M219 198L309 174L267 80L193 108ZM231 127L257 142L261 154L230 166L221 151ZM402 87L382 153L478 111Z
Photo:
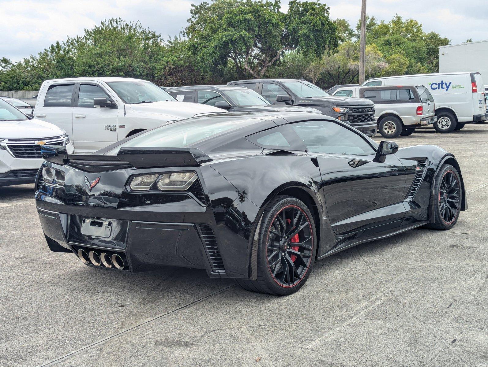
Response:
M281 223L284 223L283 216L281 215L282 212L285 212L285 223L287 223L285 226L281 226ZM280 214L279 218L278 214ZM290 218L287 218L287 215ZM295 220L300 220L299 228L302 228L302 226L305 227L296 234L290 235L289 237L288 235L286 237L279 237L281 240L278 239L278 236L274 234L276 233L275 231L285 234L296 231L296 223L292 227L293 224L291 222L294 218L296 218ZM290 220L289 222L288 219ZM297 198L277 195L266 205L261 227L257 231L259 231L257 279L235 279L236 283L244 288L244 290L258 293L274 295L295 293L303 287L310 276L315 260L317 235L312 213ZM305 235L305 233L310 233L310 235ZM298 242L294 241L295 238ZM300 243L301 245L293 246L293 243ZM304 256L300 256L299 258L298 255L293 255L293 253L303 253ZM293 256L295 257L294 259ZM271 264L269 261L271 261ZM293 268L291 264L293 264ZM285 269L297 270L297 279L295 280L295 271L287 272ZM275 275L273 275L272 271L275 272ZM281 278L280 274L283 276L283 282L281 284L279 279Z

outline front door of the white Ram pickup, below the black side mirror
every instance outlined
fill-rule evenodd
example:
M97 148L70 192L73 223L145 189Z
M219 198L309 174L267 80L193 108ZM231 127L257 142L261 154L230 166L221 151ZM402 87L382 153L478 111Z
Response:
M109 93L94 82L80 83L76 88L73 107L73 143L76 153L88 154L115 143L117 139L116 108L101 108L93 105L93 99L106 97Z

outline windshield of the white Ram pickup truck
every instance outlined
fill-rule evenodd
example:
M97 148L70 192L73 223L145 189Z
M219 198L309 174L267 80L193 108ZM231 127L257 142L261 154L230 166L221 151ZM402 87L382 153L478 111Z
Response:
M107 84L128 104L176 101L166 91L150 81L123 80L109 81Z

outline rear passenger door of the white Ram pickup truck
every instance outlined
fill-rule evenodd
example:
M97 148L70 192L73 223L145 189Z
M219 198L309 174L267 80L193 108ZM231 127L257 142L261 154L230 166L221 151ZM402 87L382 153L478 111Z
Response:
M64 129L73 140L73 103L75 83L54 83L47 85L45 94L39 94L34 116Z

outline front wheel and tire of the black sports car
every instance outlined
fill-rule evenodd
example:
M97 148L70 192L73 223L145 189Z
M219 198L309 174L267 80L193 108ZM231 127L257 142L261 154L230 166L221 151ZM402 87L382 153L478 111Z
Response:
M452 177L457 181L457 190L455 187L446 190L447 187L445 182L449 177ZM434 185L433 205L435 223L429 223L427 227L435 230L450 230L455 226L459 218L461 202L463 199L461 180L459 179L459 173L456 168L450 164L443 164L435 176ZM453 212L451 216L448 215L448 212L450 211Z

